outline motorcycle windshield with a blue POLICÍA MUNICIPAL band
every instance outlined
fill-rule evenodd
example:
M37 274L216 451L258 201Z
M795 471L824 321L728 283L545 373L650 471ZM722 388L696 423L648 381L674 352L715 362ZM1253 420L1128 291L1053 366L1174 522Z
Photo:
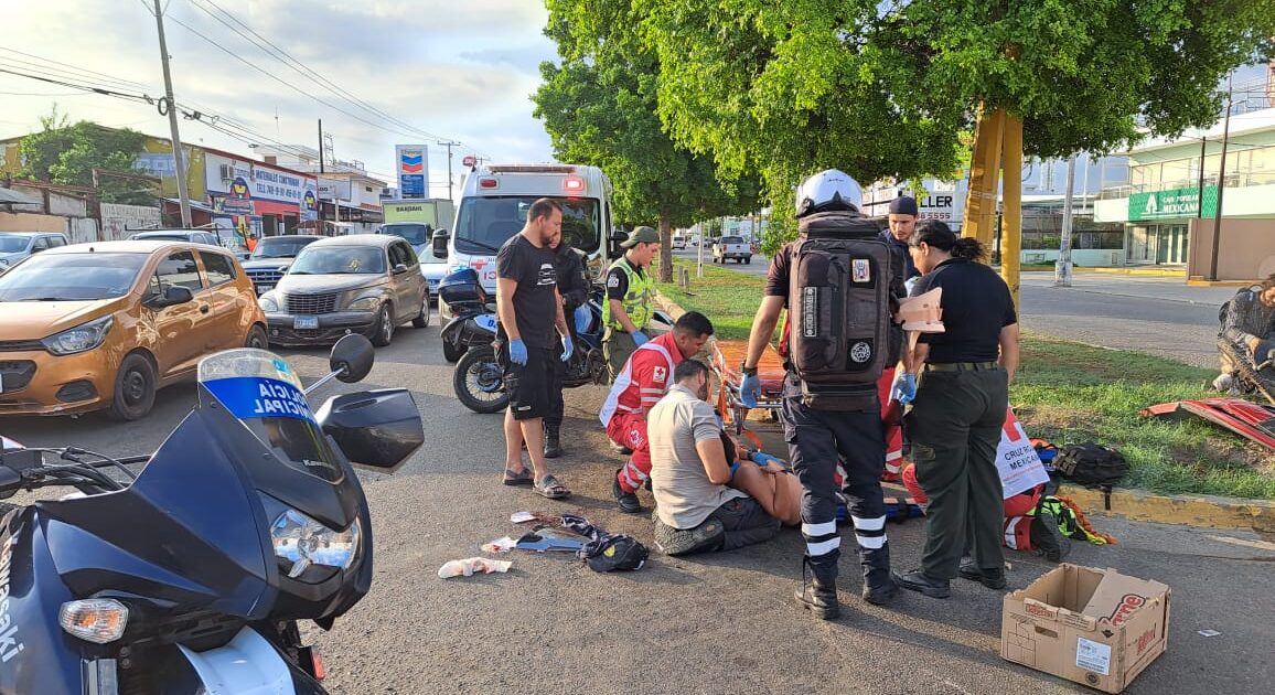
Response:
M256 348L219 352L199 362L199 383L277 460L330 483L342 481L344 473L310 412L301 379L283 358Z

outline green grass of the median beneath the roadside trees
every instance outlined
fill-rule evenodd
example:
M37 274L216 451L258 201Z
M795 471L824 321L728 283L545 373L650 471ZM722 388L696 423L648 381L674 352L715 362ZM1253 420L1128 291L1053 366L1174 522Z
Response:
M765 278L676 261L691 270L691 291L662 283L660 293L704 312L718 335L746 339ZM676 273L674 273L676 277ZM1142 355L1024 333L1023 365L1010 391L1028 435L1062 446L1096 441L1130 463L1125 487L1275 500L1275 460L1262 446L1200 418L1146 420L1156 403L1209 398L1215 374Z

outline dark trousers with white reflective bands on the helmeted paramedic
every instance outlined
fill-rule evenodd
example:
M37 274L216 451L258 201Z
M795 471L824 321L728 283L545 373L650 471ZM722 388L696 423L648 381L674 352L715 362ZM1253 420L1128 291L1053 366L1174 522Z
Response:
M885 431L881 412L815 411L799 395L785 395L780 418L793 472L801 481L802 536L806 559L821 584L836 580L840 534L836 530L838 492L844 491L854 538L868 585L889 582L890 548L885 537ZM844 460L845 481L835 482Z

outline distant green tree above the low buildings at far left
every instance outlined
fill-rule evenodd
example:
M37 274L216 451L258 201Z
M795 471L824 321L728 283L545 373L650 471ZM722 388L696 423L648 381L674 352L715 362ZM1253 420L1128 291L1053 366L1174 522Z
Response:
M70 124L57 107L40 119L42 130L22 139L20 176L68 186L93 186L93 170L133 171L147 136L136 130L105 128L89 121ZM135 180L102 177L103 203L153 204L154 191Z

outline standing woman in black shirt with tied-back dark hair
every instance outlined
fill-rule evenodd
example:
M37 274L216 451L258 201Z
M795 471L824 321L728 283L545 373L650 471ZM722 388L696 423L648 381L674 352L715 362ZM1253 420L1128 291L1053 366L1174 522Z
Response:
M917 482L929 496L921 567L895 576L933 598L958 574L1005 587L1003 505L996 448L1019 363L1019 324L1005 281L978 263L983 245L931 221L908 244L922 278L912 295L942 287L945 333L922 334L921 383L907 430ZM923 367L921 365L924 365ZM972 557L963 559L970 553Z

